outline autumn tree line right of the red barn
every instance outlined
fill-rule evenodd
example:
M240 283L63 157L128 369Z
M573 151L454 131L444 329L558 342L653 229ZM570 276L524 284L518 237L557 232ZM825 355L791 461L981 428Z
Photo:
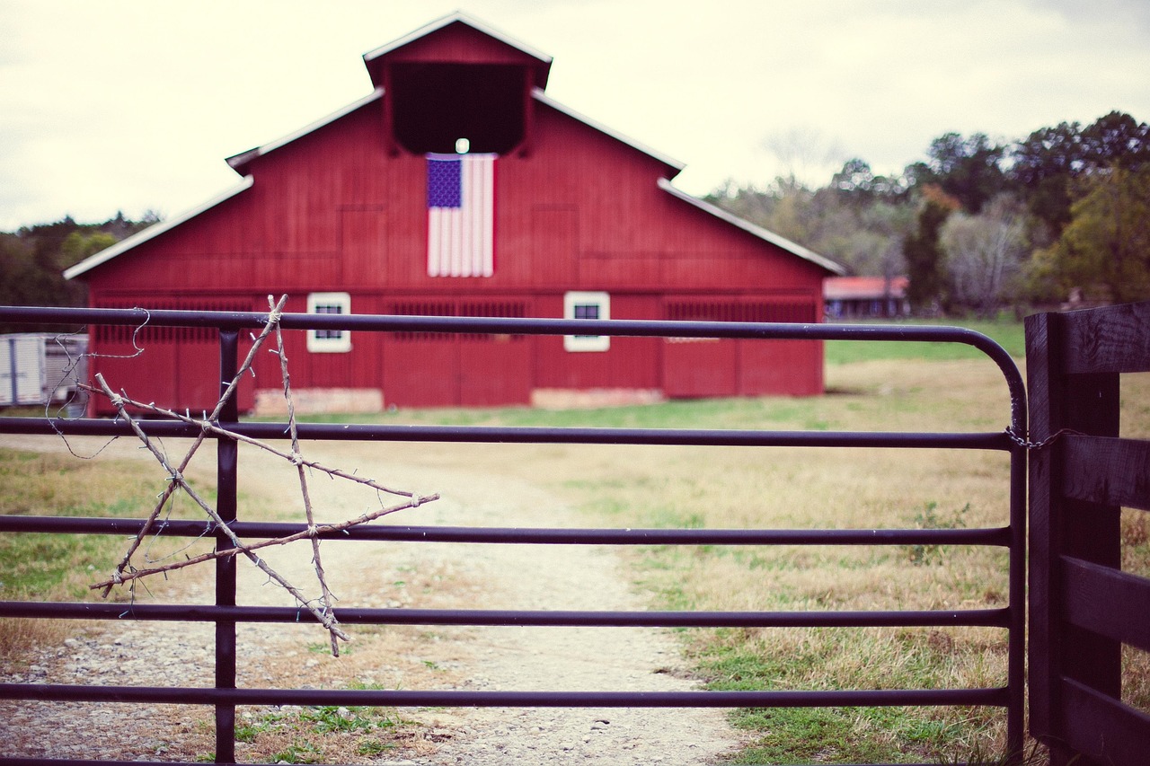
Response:
M707 199L852 274L908 276L919 313L1150 298L1150 127L1121 112L1015 141L945 133L897 176L851 159L822 187Z

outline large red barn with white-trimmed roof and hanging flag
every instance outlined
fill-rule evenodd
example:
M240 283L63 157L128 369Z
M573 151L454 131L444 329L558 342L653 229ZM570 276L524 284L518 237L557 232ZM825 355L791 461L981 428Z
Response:
M822 316L836 263L676 190L678 162L553 101L550 56L455 14L363 61L369 95L230 158L236 189L66 276L98 307L266 311L286 293L291 312ZM320 336L288 348L313 408L822 391L816 342ZM95 328L93 351L131 353L132 339ZM143 355L97 357L93 371L143 400L214 401L214 331L136 340ZM260 360L244 408L278 392L274 362Z

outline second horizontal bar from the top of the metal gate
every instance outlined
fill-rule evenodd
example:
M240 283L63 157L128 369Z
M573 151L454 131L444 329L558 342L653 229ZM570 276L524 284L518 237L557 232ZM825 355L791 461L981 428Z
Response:
M194 416L194 413L193 413ZM194 438L198 426L172 420L139 420L148 436ZM284 423L244 421L228 428L262 441L286 439ZM302 439L328 442L455 442L467 444L630 444L667 446L806 446L936 450L1000 450L1017 445L1005 431L752 431L724 429L549 428L492 426L384 426L299 423ZM6 434L41 436L131 436L124 422L98 419L6 418Z

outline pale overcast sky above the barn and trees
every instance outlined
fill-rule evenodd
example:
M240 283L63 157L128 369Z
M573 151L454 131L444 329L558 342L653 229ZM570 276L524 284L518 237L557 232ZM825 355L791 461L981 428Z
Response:
M1150 120L1147 0L0 0L0 230L199 205L239 182L224 158L368 94L365 52L454 10L553 56L549 95L693 194Z

